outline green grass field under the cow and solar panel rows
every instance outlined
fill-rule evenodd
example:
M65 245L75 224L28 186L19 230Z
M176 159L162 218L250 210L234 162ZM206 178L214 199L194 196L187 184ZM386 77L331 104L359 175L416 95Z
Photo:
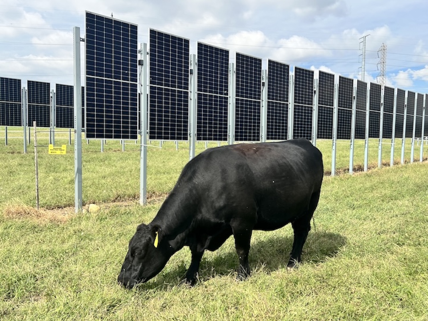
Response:
M138 145L129 142L122 152L119 142L109 141L101 153L99 142L84 142L83 198L101 210L74 214L73 146L67 155L39 148L42 210L36 211L33 148L24 155L22 140L3 142L0 320L428 319L427 162L326 176L297 270L286 269L292 229L285 226L254 232L252 275L244 282L235 281L238 258L229 238L205 253L195 287L181 282L190 264L184 248L158 276L128 291L116 283L128 241L172 189L188 159L187 145L149 148L149 203L142 207ZM376 167L373 145L369 162ZM331 142L317 146L329 169ZM204 147L197 144L198 152ZM408 161L410 143L406 148ZM356 146L356 166L361 150ZM338 146L337 163L346 172L349 144Z

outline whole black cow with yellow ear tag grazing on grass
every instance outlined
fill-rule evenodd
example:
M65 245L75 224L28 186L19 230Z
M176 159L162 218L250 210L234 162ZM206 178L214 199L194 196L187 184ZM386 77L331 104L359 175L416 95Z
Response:
M288 223L294 229L293 268L311 229L323 174L321 152L305 139L207 149L184 166L152 222L137 227L119 284L146 282L184 245L192 253L186 280L194 284L204 251L217 250L232 234L238 279L245 279L253 230Z

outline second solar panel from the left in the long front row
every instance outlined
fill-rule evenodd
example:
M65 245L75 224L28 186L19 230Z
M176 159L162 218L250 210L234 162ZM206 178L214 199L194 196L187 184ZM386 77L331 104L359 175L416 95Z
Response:
M153 29L149 33L149 137L187 140L189 40Z

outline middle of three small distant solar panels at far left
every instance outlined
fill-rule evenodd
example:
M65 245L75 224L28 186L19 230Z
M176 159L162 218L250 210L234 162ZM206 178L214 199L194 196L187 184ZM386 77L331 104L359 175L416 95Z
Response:
M51 126L51 84L28 80L28 117L29 126L36 121L38 127Z

